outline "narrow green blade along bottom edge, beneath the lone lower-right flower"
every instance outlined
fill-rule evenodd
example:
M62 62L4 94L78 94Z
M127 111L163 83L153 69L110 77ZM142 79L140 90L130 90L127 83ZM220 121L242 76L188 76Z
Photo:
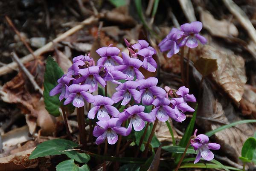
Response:
M233 170L233 171L243 171L239 168L233 168L230 166L225 166L227 169ZM216 164L209 164L209 163L185 163L180 166L180 168L222 168L220 165Z

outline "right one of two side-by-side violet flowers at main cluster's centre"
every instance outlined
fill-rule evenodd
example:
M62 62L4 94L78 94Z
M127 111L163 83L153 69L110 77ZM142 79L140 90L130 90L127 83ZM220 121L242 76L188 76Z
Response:
M157 98L164 98L166 96L165 90L157 87L158 79L155 77L138 80L137 82L140 83L138 90L142 96L143 105L151 105L154 101L154 96Z

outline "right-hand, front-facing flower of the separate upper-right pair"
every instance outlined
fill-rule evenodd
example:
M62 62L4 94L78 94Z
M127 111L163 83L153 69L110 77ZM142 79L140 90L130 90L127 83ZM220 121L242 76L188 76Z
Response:
M195 48L198 46L198 41L200 41L202 44L207 43L207 39L204 36L199 35L202 28L203 24L200 21L185 23L180 26L181 31L184 32L184 42L186 43L186 46Z

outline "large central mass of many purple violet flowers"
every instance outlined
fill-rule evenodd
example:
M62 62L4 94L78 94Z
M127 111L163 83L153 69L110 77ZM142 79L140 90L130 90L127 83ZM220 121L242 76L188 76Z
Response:
M157 62L153 58L156 51L147 41L139 40L131 44L125 40L125 43L129 54L122 52L122 58L119 56L120 50L111 45L96 50L101 56L96 62L90 54L73 58L67 74L50 91L50 96L61 93L59 100L65 99L64 105L72 103L75 107L82 107L85 102L93 104L87 117L96 117L98 120L93 130L96 144L106 139L109 144L115 144L118 134L128 136L132 128L140 131L145 127L145 122L154 122L156 119L166 122L170 117L183 122L186 119L184 113L194 111L187 104L187 101L196 101L193 95L188 94L188 88L180 87L178 97L171 98L163 88L157 87L157 78L145 79L141 67L149 72L157 69ZM93 96L99 85L105 87L108 82L117 85L111 98ZM125 106L125 109L120 113L113 104ZM154 105L154 109L145 113L145 106L150 105ZM129 123L127 128L121 126L126 121Z

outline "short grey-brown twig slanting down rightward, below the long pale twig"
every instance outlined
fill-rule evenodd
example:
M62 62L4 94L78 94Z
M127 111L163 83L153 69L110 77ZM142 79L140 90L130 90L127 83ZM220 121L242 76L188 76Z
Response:
M38 86L38 84L35 82L34 76L29 72L29 70L26 69L26 67L22 64L19 57L15 52L12 52L13 59L17 64L19 65L20 69L25 73L25 75L29 78L29 81L33 84L35 90L38 90L39 93L43 96L43 90Z

